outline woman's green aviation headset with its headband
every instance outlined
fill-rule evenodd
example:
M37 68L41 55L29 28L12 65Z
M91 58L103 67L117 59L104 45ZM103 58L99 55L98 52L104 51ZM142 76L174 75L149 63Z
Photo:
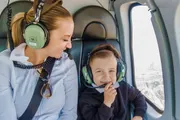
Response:
M49 42L49 33L47 28L40 22L40 15L45 0L38 0L38 6L35 14L35 20L27 24L23 31L23 37L26 44L33 49L45 47Z

